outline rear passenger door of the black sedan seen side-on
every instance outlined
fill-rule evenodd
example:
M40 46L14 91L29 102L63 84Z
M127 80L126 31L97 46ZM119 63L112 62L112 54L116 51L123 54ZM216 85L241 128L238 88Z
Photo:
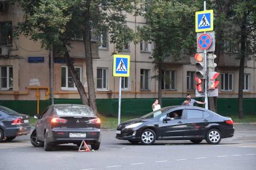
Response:
M210 114L207 113L201 109L186 109L184 138L204 138L205 129L210 121Z

